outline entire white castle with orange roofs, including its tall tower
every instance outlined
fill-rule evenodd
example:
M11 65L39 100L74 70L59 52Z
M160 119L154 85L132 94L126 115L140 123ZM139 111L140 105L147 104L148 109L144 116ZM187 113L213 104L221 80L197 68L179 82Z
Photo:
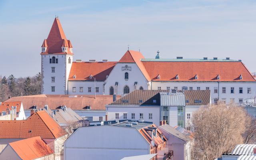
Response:
M73 62L73 47L55 18L41 52L42 94L125 95L133 90L211 90L212 103L254 98L255 76L230 58L144 58L128 50L118 62Z

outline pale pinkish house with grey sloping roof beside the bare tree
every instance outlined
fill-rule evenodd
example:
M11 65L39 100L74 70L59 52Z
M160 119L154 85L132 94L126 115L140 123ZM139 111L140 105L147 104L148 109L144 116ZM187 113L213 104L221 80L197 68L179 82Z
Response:
M192 132L178 126L179 130L165 124L158 126L158 129L166 136L166 148L175 153L173 160L190 160L190 148L194 144Z

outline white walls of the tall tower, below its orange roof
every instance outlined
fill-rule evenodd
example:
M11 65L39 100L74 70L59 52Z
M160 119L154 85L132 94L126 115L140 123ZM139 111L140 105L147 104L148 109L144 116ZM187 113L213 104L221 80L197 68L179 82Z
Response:
M53 57L58 59L58 63L50 63ZM71 63L68 63L69 58ZM68 94L68 76L72 61L73 55L41 54L42 94Z

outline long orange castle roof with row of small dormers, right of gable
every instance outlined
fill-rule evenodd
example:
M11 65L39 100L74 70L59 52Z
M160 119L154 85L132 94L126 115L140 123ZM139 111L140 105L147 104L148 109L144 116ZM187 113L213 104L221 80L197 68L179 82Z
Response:
M142 62L142 64L150 75L150 80L153 81L256 81L242 62ZM159 74L161 78L157 79ZM177 74L179 79L176 79ZM242 80L240 80L241 74ZM217 80L218 75L219 80Z

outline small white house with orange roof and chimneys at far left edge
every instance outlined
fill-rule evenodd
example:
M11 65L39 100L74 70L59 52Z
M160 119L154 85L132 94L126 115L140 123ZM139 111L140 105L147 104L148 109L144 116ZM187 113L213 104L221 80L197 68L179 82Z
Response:
M4 102L0 105L0 120L26 119L22 102Z

